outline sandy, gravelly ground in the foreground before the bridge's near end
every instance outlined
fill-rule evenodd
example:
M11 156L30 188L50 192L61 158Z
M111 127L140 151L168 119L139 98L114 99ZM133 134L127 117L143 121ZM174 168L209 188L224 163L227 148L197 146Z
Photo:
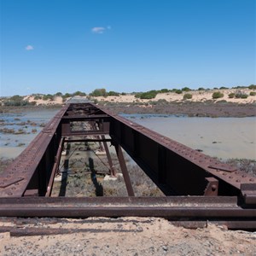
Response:
M0 222L1 225L15 225ZM71 229L72 234L0 234L1 255L256 255L256 232L207 228L187 230L162 218L68 219L16 224L21 229Z

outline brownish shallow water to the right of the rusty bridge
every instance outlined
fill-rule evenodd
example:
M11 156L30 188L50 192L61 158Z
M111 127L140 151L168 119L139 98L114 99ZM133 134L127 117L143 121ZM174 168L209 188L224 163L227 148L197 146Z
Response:
M256 118L126 115L153 131L221 159L256 159Z

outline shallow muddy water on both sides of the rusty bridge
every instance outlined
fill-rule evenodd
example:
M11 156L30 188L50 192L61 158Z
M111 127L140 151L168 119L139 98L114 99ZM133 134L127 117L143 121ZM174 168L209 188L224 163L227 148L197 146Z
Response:
M0 114L0 129L26 131L26 134L19 135L0 132L0 157L14 158L19 155L43 129L40 125L47 123L56 112L57 110L44 110L40 113ZM213 157L256 159L255 117L212 119L155 114L124 116L190 148L201 149L204 154ZM30 124L37 125L27 124L27 120ZM22 122L26 125L17 125ZM37 131L32 133L32 129Z

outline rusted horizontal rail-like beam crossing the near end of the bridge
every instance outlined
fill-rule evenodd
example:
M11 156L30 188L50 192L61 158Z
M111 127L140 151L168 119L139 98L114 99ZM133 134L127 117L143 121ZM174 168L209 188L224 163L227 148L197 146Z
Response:
M95 198L0 198L0 216L6 217L160 217L191 220L241 220L253 222L256 208L237 206L236 197L174 196Z

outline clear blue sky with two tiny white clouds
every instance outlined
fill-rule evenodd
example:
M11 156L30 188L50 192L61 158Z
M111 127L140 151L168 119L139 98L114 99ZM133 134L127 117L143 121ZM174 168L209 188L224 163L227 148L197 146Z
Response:
M0 3L0 96L256 84L255 0Z

